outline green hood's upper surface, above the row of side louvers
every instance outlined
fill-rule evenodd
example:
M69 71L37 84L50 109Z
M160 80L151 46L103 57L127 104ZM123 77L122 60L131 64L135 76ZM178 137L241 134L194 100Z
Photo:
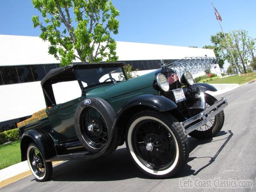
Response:
M155 73L156 71L153 71L119 83L94 87L86 92L86 97L100 97L106 100L108 98L150 87L153 85Z

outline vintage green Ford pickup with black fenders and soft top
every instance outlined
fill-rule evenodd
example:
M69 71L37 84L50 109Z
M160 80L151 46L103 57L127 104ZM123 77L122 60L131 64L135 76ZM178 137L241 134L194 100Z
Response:
M213 86L194 83L188 71L179 80L164 65L128 80L123 66L71 64L42 79L47 115L19 129L22 161L36 180L49 180L52 161L98 158L124 142L144 173L171 177L187 163L187 135L211 138L221 130L228 103L205 93ZM80 95L56 102L53 87L60 82L76 82Z

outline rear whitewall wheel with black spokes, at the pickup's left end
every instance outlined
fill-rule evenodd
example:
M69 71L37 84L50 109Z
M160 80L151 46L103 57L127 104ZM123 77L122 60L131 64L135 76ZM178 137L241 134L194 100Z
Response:
M27 149L28 165L37 181L47 181L52 176L52 162L45 162L35 143L31 143Z

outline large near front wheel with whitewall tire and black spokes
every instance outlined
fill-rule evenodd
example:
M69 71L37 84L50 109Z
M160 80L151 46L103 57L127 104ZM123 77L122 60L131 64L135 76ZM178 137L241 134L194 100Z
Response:
M176 175L186 165L188 138L168 113L142 111L128 123L126 146L144 173L155 178Z

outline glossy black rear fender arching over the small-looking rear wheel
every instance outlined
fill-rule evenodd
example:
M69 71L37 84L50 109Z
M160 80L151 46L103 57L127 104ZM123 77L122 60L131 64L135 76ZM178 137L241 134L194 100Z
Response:
M56 156L54 141L49 133L44 130L28 130L24 132L20 141L21 160L27 160L26 151L28 145L34 142L42 153L44 159Z

